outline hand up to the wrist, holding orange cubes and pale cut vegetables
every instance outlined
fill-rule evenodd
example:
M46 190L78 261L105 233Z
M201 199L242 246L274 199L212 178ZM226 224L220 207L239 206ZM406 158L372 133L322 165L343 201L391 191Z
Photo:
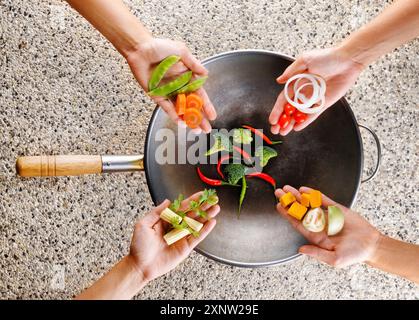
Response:
M275 195L280 198L285 193L291 192L300 201L301 193L309 193L310 190L310 188L301 187L298 191L291 186L285 186L283 189L277 189ZM334 202L324 194L322 194L322 204L325 208L338 206L345 215L345 225L335 236L329 237L326 231L308 231L301 221L290 216L281 204L277 205L277 211L311 242L310 245L300 247L299 252L334 267L346 267L372 260L381 239L380 232L359 214Z

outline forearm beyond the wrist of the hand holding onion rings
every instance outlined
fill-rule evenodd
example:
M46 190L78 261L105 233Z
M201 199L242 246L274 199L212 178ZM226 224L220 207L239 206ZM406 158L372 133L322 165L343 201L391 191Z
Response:
M366 66L419 35L419 1L398 0L351 34L341 48Z

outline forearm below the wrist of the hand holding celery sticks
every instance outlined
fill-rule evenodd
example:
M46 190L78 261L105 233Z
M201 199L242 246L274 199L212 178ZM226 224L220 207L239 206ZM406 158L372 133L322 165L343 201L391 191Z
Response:
M147 282L135 268L131 258L125 257L106 275L84 290L77 300L125 300L135 296Z

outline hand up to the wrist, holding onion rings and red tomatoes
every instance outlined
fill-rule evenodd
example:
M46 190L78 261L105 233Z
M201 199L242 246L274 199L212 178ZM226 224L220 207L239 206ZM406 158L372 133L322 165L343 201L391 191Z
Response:
M321 76L326 81L325 106L327 108L338 101L348 89L355 83L364 66L353 60L346 51L340 47L313 50L300 55L285 71L277 78L277 82L283 84L289 78L299 73L312 73ZM304 91L304 90L303 90ZM291 130L300 131L316 120L320 113L309 114L306 121L295 124L294 120L285 128L280 129L279 117L287 104L284 91L282 91L269 115L271 132L283 136Z

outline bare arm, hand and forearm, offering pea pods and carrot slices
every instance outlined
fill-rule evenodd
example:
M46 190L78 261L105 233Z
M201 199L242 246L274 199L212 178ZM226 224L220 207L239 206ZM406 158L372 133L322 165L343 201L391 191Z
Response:
M188 69L194 73L194 76L207 75L207 70L184 43L153 38L122 0L67 0L67 2L121 53L144 91L149 91L148 81L157 63L170 55L179 56L181 61L169 70L164 80L182 74ZM217 113L205 90L200 88L197 93L204 100L205 117L195 132L208 133L211 131L209 121L215 120ZM186 126L177 115L172 100L165 97L152 97L152 99L166 111L173 122Z

